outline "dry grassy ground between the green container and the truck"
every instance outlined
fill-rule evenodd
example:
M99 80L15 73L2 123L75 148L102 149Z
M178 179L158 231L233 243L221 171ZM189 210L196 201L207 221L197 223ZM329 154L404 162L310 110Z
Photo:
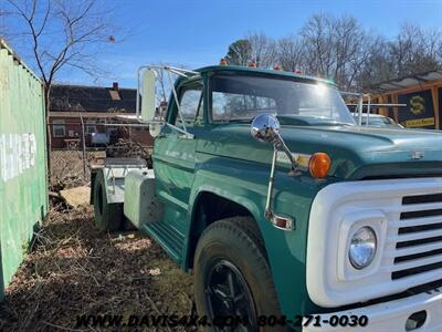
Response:
M0 331L101 331L76 328L83 314L189 315L192 293L192 277L147 236L97 230L91 207L53 209L7 289Z

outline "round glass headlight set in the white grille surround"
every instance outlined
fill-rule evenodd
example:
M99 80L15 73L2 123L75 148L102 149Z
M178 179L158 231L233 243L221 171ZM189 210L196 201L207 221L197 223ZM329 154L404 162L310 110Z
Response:
M375 258L377 239L375 230L365 226L359 228L351 237L348 256L355 269L368 267Z

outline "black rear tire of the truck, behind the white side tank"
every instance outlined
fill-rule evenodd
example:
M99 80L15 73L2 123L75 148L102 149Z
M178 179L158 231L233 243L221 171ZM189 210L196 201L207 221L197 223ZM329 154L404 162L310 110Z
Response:
M95 226L101 230L119 230L123 226L123 203L107 203L105 177L99 170L94 180Z

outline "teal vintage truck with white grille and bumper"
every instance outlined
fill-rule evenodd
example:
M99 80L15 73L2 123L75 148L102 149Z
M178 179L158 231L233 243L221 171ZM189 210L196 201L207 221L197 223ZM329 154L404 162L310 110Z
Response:
M442 331L439 132L357 126L332 82L233 65L162 68L161 116L158 70L152 169L94 174L98 227L148 234L238 331Z

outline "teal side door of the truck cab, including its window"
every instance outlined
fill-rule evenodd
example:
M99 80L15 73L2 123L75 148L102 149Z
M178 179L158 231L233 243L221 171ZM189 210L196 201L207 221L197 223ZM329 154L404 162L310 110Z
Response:
M156 191L165 204L162 225L171 247L180 251L187 232L187 210L190 188L196 168L196 149L199 134L203 131L203 86L201 81L193 81L178 91L180 110L186 128L194 135L188 138L178 131L165 126L156 138L154 149L154 169ZM175 103L168 110L168 122L182 128ZM157 230L158 231L158 230Z

